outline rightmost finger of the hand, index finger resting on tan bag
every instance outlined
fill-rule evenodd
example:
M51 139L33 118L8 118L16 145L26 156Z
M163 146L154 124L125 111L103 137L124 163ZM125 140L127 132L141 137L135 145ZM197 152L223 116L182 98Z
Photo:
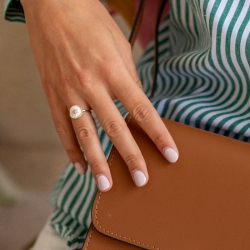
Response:
M121 79L124 80L124 84L114 86L116 96L155 143L162 155L169 162L176 162L179 158L177 146L152 103L133 79L128 77L128 74Z

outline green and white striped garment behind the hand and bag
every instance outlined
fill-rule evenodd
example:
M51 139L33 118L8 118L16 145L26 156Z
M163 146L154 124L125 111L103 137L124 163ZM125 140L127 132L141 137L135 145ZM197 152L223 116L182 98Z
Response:
M5 18L24 21L18 1L6 3ZM153 105L162 117L250 142L250 0L172 0L160 28L160 57ZM153 42L137 65L149 94ZM116 101L121 114L126 110ZM105 155L111 142L97 122ZM69 163L50 200L52 227L81 249L91 223L96 185Z

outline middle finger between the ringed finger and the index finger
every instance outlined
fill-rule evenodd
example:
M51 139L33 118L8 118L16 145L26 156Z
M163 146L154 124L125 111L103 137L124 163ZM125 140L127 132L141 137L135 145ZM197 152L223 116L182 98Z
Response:
M104 131L124 159L136 186L144 186L148 172L141 151L111 97L103 89L92 97L91 106ZM97 98L97 99L95 99Z

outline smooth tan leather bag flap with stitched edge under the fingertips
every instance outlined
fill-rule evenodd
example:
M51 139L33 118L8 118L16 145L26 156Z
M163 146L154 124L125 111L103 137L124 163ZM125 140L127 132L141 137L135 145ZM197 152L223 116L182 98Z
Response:
M95 228L146 249L249 250L250 145L164 121L178 146L178 162L168 163L131 121L149 182L136 187L113 149L109 164L114 185L97 193Z

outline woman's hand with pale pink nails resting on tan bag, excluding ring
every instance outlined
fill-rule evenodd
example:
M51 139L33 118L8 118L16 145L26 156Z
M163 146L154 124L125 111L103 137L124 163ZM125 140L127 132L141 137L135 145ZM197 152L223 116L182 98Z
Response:
M170 162L176 145L142 91L131 47L98 0L22 0L33 54L57 133L79 173L87 170L79 143L100 190L112 178L89 112L78 119L69 109L93 109L126 162L137 186L148 181L140 149L113 100L118 98ZM79 143L78 143L79 142Z

